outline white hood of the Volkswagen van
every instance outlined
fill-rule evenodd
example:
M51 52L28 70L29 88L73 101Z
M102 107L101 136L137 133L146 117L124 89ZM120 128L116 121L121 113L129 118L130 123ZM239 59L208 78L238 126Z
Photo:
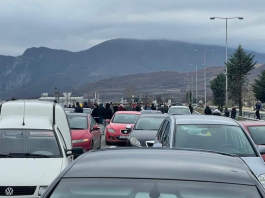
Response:
M0 158L0 186L48 186L62 169L62 158Z

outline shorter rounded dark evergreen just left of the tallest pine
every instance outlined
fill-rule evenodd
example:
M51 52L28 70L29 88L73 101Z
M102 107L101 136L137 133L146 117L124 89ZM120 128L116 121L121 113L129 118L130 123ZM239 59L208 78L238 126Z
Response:
M214 95L214 103L218 109L223 112L226 90L226 76L220 73L216 78L210 81L211 89Z

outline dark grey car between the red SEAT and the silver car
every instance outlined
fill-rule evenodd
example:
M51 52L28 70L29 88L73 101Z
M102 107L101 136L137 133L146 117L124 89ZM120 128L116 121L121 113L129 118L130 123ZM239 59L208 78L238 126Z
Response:
M155 111L156 112L156 111ZM135 122L127 139L127 146L152 147L157 130L167 114L143 114ZM127 129L131 129L128 126Z

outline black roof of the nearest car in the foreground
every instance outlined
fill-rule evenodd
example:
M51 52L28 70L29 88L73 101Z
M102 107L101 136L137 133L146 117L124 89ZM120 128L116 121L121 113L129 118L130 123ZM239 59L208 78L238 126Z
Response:
M238 157L203 150L169 148L131 147L92 151L80 157L62 177L169 179L254 185L252 172Z

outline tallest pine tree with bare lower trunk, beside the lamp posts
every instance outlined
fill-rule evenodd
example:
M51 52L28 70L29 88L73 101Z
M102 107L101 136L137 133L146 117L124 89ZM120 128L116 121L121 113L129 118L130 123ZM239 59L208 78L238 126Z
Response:
M249 72L254 69L257 62L254 62L254 55L247 54L243 47L230 56L227 66L229 94L232 99L239 104L239 116L242 116L242 87L246 82Z

